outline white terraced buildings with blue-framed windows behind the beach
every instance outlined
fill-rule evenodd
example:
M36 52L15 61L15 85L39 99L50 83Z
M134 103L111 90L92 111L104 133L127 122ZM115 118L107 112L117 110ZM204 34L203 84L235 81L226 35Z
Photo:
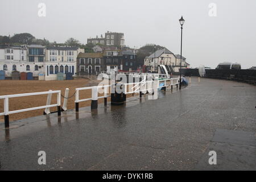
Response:
M57 72L76 75L76 59L84 49L78 47L48 47L40 45L0 46L0 70L6 77L13 71L44 73L45 80L56 80Z

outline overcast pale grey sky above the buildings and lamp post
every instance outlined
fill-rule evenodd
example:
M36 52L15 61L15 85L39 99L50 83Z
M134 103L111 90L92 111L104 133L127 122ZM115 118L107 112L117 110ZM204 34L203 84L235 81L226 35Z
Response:
M46 17L38 4L46 4ZM217 16L209 16L216 3ZM185 19L183 55L192 67L222 61L256 66L256 1L228 0L1 0L0 35L29 32L50 42L123 32L130 47L155 43L180 53L179 18Z

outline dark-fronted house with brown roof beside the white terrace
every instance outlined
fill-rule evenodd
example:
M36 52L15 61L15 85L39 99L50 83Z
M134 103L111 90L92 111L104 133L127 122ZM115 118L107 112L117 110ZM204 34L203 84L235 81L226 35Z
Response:
M77 75L94 75L104 70L102 53L79 53L77 56Z

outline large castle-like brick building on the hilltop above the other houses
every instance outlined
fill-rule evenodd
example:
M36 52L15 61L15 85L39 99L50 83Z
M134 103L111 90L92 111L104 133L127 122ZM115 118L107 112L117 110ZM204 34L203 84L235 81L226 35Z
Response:
M105 37L101 35L100 38L96 36L96 38L87 39L87 43L92 43L93 45L101 44L102 46L117 46L122 47L125 46L125 39L123 33L118 32L106 32Z

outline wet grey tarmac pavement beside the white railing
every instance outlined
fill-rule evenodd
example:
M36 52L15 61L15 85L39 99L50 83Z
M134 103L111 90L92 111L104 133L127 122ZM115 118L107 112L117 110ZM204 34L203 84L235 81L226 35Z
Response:
M10 122L10 130L1 123L1 170L255 170L256 86L200 81L158 100L137 95L124 106Z

